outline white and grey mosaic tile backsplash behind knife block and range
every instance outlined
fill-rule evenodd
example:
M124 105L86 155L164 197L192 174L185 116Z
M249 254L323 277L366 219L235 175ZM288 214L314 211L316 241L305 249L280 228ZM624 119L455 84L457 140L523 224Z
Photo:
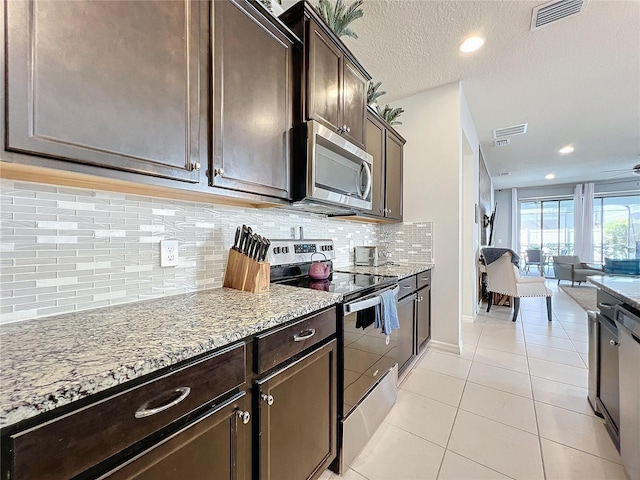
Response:
M222 286L236 226L268 238L374 245L377 224L282 209L229 207L0 180L0 323ZM163 239L179 265L160 267Z

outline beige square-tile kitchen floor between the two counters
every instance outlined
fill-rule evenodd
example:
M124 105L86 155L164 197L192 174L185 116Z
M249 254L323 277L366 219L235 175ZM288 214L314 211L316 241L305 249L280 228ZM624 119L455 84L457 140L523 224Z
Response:
M587 403L587 319L556 282L521 315L493 307L463 323L461 355L427 350L351 468L322 480L625 479Z

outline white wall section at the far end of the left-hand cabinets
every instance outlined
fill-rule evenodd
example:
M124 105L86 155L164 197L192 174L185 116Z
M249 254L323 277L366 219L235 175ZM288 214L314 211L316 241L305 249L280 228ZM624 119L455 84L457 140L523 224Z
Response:
M463 270L466 270L463 256L470 264L469 251L477 248L473 247L477 234L463 229L463 223L469 222L469 209L464 205L477 199L477 190L475 196L463 195L465 188L471 188L463 184L463 138L468 144L468 156L477 158L477 135L459 83L413 95L393 106L405 110L400 118L403 124L396 127L407 140L404 221L431 220L434 224L432 340L436 346L459 350ZM477 170L469 175L470 179L477 179ZM477 188L477 180L475 184ZM475 269L471 278L475 278Z

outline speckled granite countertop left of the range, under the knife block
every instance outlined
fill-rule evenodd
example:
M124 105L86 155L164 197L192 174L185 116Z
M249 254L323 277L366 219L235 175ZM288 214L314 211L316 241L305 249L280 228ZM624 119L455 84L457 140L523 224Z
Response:
M0 326L0 427L339 303L220 288Z

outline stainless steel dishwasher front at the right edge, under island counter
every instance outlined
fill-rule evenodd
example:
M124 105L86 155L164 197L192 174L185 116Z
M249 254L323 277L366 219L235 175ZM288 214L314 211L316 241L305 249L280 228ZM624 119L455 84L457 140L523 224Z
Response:
M640 479L640 312L616 307L620 375L620 455L631 479Z

